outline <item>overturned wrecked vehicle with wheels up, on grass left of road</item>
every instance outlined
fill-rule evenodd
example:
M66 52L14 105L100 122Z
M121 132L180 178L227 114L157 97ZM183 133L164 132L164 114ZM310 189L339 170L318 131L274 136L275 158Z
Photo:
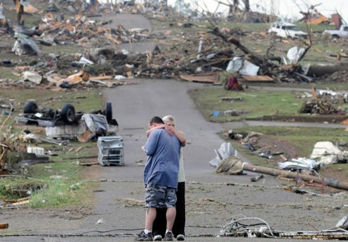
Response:
M85 142L99 136L116 135L118 122L112 118L110 102L104 110L91 113L76 112L72 104L64 104L62 109L39 108L35 101L27 101L23 114L15 120L27 125L45 127L49 138L78 139Z

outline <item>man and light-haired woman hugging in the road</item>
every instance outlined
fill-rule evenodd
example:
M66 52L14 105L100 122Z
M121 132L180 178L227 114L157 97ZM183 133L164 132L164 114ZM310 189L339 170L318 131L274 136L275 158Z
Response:
M151 118L142 150L147 155L144 169L145 229L136 241L185 240L185 172L181 147L185 134L167 115Z

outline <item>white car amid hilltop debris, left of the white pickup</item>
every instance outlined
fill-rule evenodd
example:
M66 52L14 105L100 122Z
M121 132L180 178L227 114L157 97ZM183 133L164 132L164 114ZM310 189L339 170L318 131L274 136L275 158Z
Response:
M280 21L272 23L268 33L276 34L282 38L307 38L307 33L301 31L295 24Z

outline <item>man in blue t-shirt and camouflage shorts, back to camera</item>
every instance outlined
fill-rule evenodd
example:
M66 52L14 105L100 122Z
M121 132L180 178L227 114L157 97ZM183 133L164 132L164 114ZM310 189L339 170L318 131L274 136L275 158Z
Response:
M151 118L149 128L164 125L158 116ZM176 217L180 141L170 127L155 129L142 147L147 155L144 169L145 229L135 240L152 241L152 224L156 208L167 208L165 240L173 240L172 226Z

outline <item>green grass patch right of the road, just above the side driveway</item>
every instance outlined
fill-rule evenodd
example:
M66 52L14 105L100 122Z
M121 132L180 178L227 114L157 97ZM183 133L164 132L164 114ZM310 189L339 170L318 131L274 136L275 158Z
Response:
M207 87L190 90L189 94L195 101L204 117L211 122L229 122L244 118L255 118L263 115L298 115L304 100L297 99L292 92L252 90L227 91L218 87ZM222 97L242 97L242 101L221 101ZM217 117L211 116L213 111L220 111ZM247 111L239 116L225 116L223 111Z

